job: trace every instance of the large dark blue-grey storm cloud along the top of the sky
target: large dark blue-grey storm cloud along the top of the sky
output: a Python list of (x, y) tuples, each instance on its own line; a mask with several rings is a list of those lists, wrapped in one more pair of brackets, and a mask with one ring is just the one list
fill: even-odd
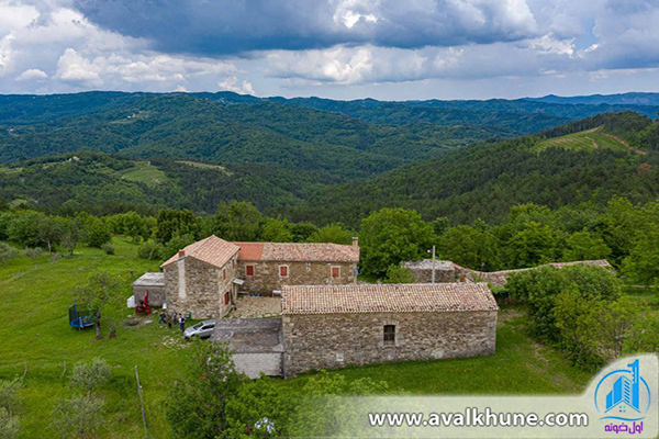
[(161, 52), (227, 55), (337, 44), (416, 48), (533, 37), (524, 0), (76, 0), (88, 20)]

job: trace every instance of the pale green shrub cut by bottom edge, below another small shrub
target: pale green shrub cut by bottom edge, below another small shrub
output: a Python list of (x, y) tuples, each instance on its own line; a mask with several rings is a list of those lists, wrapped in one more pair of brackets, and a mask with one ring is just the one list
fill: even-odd
[(103, 425), (103, 401), (97, 396), (74, 396), (58, 399), (51, 428), (62, 437), (78, 435), (81, 439)]

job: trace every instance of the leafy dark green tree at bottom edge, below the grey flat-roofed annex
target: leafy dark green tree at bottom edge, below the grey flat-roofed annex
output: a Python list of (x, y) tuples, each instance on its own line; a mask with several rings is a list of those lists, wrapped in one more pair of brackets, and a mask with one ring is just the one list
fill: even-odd
[(226, 428), (225, 406), (245, 376), (236, 372), (226, 342), (194, 340), (186, 376), (165, 402), (166, 418), (179, 438), (215, 438)]

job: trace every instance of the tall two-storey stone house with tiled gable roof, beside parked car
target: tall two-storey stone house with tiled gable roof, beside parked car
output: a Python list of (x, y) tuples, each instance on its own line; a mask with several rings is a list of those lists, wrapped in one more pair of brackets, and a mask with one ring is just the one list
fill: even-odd
[(212, 235), (166, 260), (167, 307), (193, 318), (222, 317), (233, 307), (239, 248)]

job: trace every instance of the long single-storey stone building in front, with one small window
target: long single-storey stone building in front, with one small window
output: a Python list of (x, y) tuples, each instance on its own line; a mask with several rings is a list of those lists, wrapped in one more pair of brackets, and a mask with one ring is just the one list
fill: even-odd
[(283, 373), (494, 353), (484, 283), (283, 286)]

